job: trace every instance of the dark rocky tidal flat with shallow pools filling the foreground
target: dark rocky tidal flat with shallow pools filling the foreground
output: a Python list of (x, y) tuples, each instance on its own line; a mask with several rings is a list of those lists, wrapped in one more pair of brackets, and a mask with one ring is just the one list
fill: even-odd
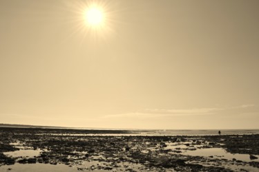
[(259, 171), (259, 134), (0, 127), (0, 171)]

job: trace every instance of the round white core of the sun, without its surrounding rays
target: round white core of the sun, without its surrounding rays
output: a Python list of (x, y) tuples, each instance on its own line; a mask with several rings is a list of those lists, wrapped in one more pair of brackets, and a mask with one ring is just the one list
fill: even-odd
[(102, 24), (104, 20), (104, 14), (102, 10), (96, 7), (89, 8), (86, 10), (86, 21), (89, 25), (97, 26)]

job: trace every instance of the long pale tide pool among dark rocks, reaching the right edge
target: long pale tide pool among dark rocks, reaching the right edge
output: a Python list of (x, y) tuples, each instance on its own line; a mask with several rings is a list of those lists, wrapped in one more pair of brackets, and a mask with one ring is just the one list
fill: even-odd
[(225, 151), (222, 148), (197, 149), (195, 151), (183, 150), (181, 154), (191, 155), (191, 156), (205, 156), (205, 157), (209, 157), (213, 155), (213, 158), (224, 158), (227, 160), (232, 160), (233, 158), (236, 158), (236, 160), (242, 160), (245, 162), (251, 162), (251, 161), (259, 162), (259, 155), (255, 155), (256, 157), (258, 157), (258, 159), (250, 160), (250, 155), (248, 154), (239, 154), (239, 153), (232, 154)]

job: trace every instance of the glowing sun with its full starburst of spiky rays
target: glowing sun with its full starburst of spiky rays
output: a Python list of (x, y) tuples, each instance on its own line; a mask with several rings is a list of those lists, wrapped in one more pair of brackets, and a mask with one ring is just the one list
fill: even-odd
[[(88, 41), (93, 45), (98, 43), (107, 43), (111, 35), (116, 34), (116, 25), (124, 24), (118, 18), (117, 3), (112, 1), (66, 1), (66, 12), (70, 15), (63, 21), (64, 25), (69, 27), (64, 42), (80, 36), (79, 47), (84, 47)], [(69, 7), (69, 8), (68, 8)]]

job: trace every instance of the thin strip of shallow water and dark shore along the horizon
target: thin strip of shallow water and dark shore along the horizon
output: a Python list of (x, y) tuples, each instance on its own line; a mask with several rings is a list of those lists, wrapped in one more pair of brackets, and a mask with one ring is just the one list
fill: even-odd
[[(231, 135), (256, 135), (259, 134), (259, 129), (221, 129), (221, 134), (215, 129), (169, 129), (169, 130), (154, 130), (154, 129), (80, 129), (80, 128), (61, 128), (61, 127), (6, 127), (1, 126), (0, 129), (7, 131), (50, 131), (54, 133), (77, 133), (77, 134), (128, 134), (140, 136), (231, 136)], [(211, 133), (202, 133), (201, 131), (211, 131)], [(234, 132), (235, 131), (235, 132)], [(245, 131), (245, 132), (244, 132)], [(185, 133), (181, 133), (185, 132)], [(189, 133), (188, 133), (189, 132)], [(200, 133), (199, 133), (200, 132)]]

